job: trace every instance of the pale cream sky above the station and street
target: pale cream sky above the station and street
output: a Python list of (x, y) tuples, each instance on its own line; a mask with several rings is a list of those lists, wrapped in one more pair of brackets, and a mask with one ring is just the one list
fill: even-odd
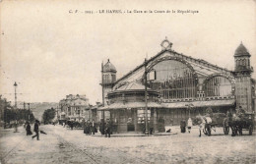
[(109, 59), (121, 78), (159, 53), (165, 37), (176, 52), (228, 70), (242, 41), (256, 68), (255, 1), (3, 0), (0, 5), (0, 94), (10, 101), (18, 82), (18, 101), (58, 102), (67, 94), (86, 94), (95, 104), (101, 101), (101, 62)]

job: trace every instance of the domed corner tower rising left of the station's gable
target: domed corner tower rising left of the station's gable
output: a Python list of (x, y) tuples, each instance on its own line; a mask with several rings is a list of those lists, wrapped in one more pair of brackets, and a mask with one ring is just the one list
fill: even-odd
[(109, 91), (112, 91), (113, 85), (116, 82), (116, 69), (107, 60), (106, 64), (101, 64), (101, 86), (102, 86), (102, 103), (106, 104), (106, 95)]

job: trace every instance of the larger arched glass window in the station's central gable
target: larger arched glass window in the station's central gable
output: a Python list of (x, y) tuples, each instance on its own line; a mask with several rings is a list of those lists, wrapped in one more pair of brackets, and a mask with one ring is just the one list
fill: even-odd
[(154, 80), (150, 81), (150, 87), (159, 91), (161, 98), (196, 97), (196, 79), (193, 70), (186, 64), (176, 60), (165, 60), (156, 64), (152, 72)]

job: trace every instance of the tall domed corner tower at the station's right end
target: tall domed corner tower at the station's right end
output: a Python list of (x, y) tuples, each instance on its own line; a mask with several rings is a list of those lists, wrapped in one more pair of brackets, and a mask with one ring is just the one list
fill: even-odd
[(241, 106), (245, 111), (252, 112), (254, 82), (251, 79), (253, 68), (250, 66), (251, 55), (240, 43), (234, 52), (235, 67), (233, 76), (235, 78), (236, 107)]

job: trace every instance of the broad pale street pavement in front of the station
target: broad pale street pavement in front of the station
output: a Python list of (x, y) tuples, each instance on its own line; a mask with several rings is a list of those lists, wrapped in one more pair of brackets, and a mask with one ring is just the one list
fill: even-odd
[[(47, 135), (40, 140), (27, 137), (25, 129), (0, 129), (1, 163), (256, 163), (256, 137), (224, 136), (222, 129), (213, 136), (191, 134), (159, 137), (92, 137), (81, 130), (62, 126), (41, 126)], [(248, 134), (248, 132), (244, 132)]]

